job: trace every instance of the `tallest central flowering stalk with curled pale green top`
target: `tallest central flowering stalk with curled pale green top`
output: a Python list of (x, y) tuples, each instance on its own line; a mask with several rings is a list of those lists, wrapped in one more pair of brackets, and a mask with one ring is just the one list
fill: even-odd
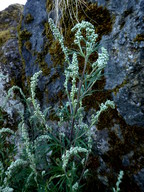
[[(60, 122), (64, 120), (64, 109), (67, 108), (69, 111), (69, 126), (70, 130), (70, 144), (68, 149), (62, 154), (62, 168), (68, 179), (68, 185), (70, 186), (70, 191), (78, 191), (80, 181), (84, 174), (86, 173), (86, 164), (89, 158), (89, 154), (92, 150), (92, 135), (90, 128), (98, 122), (100, 114), (107, 110), (108, 107), (114, 108), (115, 105), (113, 101), (107, 100), (104, 104), (100, 105), (99, 111), (91, 116), (91, 123), (87, 124), (83, 121), (83, 111), (84, 107), (82, 105), (83, 99), (86, 95), (91, 94), (92, 87), (97, 80), (100, 79), (102, 75), (102, 70), (107, 64), (108, 53), (107, 50), (102, 47), (101, 52), (98, 53), (98, 59), (93, 63), (90, 63), (89, 58), (91, 54), (96, 52), (96, 40), (98, 35), (95, 34), (94, 26), (86, 21), (76, 24), (71, 30), (75, 32), (74, 44), (78, 47), (78, 51), (71, 51), (64, 45), (64, 37), (60, 34), (58, 28), (55, 26), (52, 19), (49, 19), (49, 24), (55, 39), (57, 39), (61, 45), (62, 51), (65, 55), (65, 62), (67, 63), (67, 68), (65, 69), (65, 82), (64, 87), (67, 94), (68, 101), (66, 106), (61, 107)], [(83, 35), (85, 34), (85, 35)], [(85, 45), (83, 47), (82, 45)], [(78, 56), (84, 58), (82, 73), (79, 72)], [(91, 64), (91, 71), (87, 72), (88, 65)], [(71, 88), (69, 88), (71, 84)], [(61, 125), (61, 124), (60, 124)], [(81, 139), (85, 141), (86, 145), (80, 144)], [(69, 172), (73, 173), (73, 165), (69, 164), (70, 159), (73, 157), (79, 158), (79, 154), (83, 162), (83, 170), (81, 172), (80, 178), (75, 180), (71, 176), (69, 178)], [(70, 166), (71, 165), (71, 166)], [(73, 181), (73, 182), (72, 182)], [(75, 182), (74, 182), (75, 181)]]

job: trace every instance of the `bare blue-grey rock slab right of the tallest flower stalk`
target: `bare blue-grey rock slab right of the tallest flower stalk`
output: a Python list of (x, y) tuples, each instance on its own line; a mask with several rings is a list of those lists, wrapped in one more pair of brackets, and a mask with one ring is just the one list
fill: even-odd
[(103, 38), (110, 60), (105, 70), (107, 90), (129, 125), (144, 127), (144, 1), (97, 1), (115, 16), (113, 30)]

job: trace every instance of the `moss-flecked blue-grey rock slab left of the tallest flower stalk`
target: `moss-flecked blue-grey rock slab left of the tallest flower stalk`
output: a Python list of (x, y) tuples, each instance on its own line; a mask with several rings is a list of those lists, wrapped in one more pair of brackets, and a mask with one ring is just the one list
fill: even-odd
[[(28, 1), (24, 9), (20, 32), (22, 56), (25, 63), (26, 84), (29, 84), (29, 78), (35, 72), (43, 71), (44, 75), (40, 78), (38, 86), (42, 95), (41, 105), (43, 107), (45, 105), (51, 106), (53, 103), (56, 104), (59, 100), (58, 94), (63, 90), (64, 82), (62, 70), (59, 67), (51, 67), (52, 61), (48, 52), (48, 40), (45, 35), (45, 23), (47, 21), (46, 0)], [(23, 32), (28, 32), (29, 37)], [(62, 81), (56, 78), (58, 76)]]

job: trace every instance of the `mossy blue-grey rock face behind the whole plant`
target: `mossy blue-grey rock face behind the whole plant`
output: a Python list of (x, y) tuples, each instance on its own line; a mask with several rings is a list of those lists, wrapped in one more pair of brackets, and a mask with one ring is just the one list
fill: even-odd
[[(86, 118), (91, 108), (98, 109), (93, 102), (95, 100), (101, 103), (113, 99), (116, 109), (102, 114), (98, 125), (92, 127), (95, 155), (88, 163), (92, 178), (85, 192), (111, 191), (120, 170), (124, 170), (122, 191), (144, 191), (144, 1), (90, 2), (83, 7), (84, 12), (79, 9), (79, 19), (95, 25), (99, 42), (107, 48), (110, 59), (104, 77), (94, 86), (103, 91), (84, 101), (88, 114)], [(42, 108), (51, 105), (56, 108), (64, 99), (63, 54), (48, 26), (48, 15), (55, 18), (52, 5), (52, 0), (28, 0), (18, 27), (18, 37), (16, 32), (13, 33), (13, 28), (12, 31), (8, 30), (8, 25), (16, 27), (20, 19), (5, 17), (3, 20), (4, 12), (0, 13), (0, 23), (6, 23), (6, 28), (3, 27), (5, 38), (1, 38), (0, 34), (0, 70), (3, 75), (8, 75), (6, 80), (1, 80), (0, 103), (5, 97), (4, 91), (7, 86), (13, 85), (13, 81), (28, 94), (30, 77), (39, 70), (43, 71), (43, 75), (38, 84), (37, 97)], [(19, 10), (21, 13), (21, 7), (11, 8), (8, 8), (8, 12)], [(63, 33), (66, 45), (70, 47), (73, 39), (70, 17), (65, 14), (64, 23), (60, 21), (60, 24), (63, 28), (66, 26), (68, 32)], [(18, 38), (22, 62), (19, 59)], [(19, 100), (13, 102), (16, 101), (17, 108), (22, 109)], [(10, 106), (7, 113), (11, 110)]]

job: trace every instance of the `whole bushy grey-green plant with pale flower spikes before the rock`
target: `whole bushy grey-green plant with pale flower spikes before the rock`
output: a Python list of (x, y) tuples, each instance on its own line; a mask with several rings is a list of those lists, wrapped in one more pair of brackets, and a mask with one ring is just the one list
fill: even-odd
[[(42, 71), (31, 77), (29, 98), (25, 97), (19, 87), (12, 87), (7, 99), (11, 91), (18, 89), (26, 104), (28, 118), (25, 114), (21, 114), (21, 122), (18, 125), (22, 145), (19, 159), (12, 161), (5, 173), (1, 162), (0, 176), (4, 174), (4, 185), (1, 186), (3, 191), (6, 187), (9, 187), (9, 190), (13, 188), (14, 191), (19, 191), (21, 188), (23, 192), (31, 190), (81, 191), (82, 180), (88, 176), (89, 172), (86, 164), (93, 145), (91, 127), (98, 122), (103, 111), (108, 107), (115, 107), (114, 102), (108, 100), (100, 105), (96, 114), (92, 114), (90, 123), (84, 121), (83, 99), (92, 94), (92, 87), (102, 76), (102, 70), (108, 60), (106, 49), (101, 48), (98, 59), (93, 63), (89, 61), (90, 55), (97, 50), (97, 34), (95, 34), (94, 26), (82, 21), (73, 27), (74, 43), (78, 50), (71, 51), (65, 47), (64, 38), (52, 19), (49, 19), (49, 24), (54, 37), (61, 45), (67, 63), (64, 71), (67, 102), (60, 107), (57, 114), (58, 130), (61, 130), (63, 126), (67, 130), (61, 132), (56, 131), (54, 126), (50, 127), (45, 112), (41, 110), (36, 99), (36, 86)], [(83, 36), (83, 31), (86, 32), (85, 36)], [(85, 47), (82, 47), (82, 42)], [(79, 72), (78, 56), (84, 58), (82, 73)], [(89, 73), (86, 71), (88, 64), (91, 64)], [(68, 84), (71, 85), (70, 88)], [(5, 131), (6, 129), (1, 130), (1, 132)], [(10, 130), (7, 129), (7, 131)]]

